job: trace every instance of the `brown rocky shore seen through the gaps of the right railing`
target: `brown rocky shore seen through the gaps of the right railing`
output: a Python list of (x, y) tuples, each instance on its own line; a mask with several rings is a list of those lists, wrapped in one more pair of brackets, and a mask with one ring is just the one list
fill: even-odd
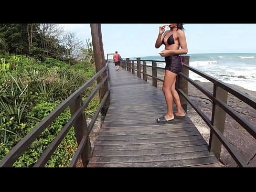
[[(147, 67), (147, 73), (151, 74), (151, 67)], [(136, 73), (135, 73), (136, 75)], [(164, 70), (158, 69), (157, 77), (163, 79), (164, 78)], [(143, 77), (142, 77), (143, 78)], [(195, 80), (202, 87), (207, 89), (212, 93), (213, 83), (212, 82), (200, 82)], [(152, 84), (152, 78), (148, 77), (147, 82)], [(228, 84), (228, 83), (226, 83)], [(228, 84), (229, 86), (246, 93), (251, 98), (256, 98), (256, 91), (250, 91), (244, 89), (240, 86), (236, 86), (234, 84)], [(162, 89), (162, 82), (157, 81), (157, 88)], [(212, 113), (212, 102), (206, 97), (204, 93), (195, 88), (192, 84), (189, 83), (188, 86), (188, 95), (193, 102), (196, 103), (197, 106), (201, 109), (202, 112), (206, 114), (206, 116), (211, 120)], [(238, 112), (244, 119), (250, 122), (254, 127), (256, 127), (256, 110), (251, 108), (248, 104), (242, 102), (240, 99), (234, 97), (230, 93), (228, 93), (228, 106), (232, 108), (234, 111)], [(196, 125), (198, 131), (205, 138), (206, 142), (209, 144), (209, 136), (210, 136), (210, 128), (206, 125), (206, 123), (200, 118), (197, 112), (188, 104), (187, 115), (190, 120)], [(248, 163), (250, 167), (256, 167), (256, 141), (255, 139), (243, 129), (243, 127), (238, 124), (235, 120), (233, 120), (228, 114), (226, 115), (226, 124), (225, 124), (225, 132), (224, 135), (228, 138), (228, 141), (237, 148), (240, 155), (243, 159)], [(222, 146), (220, 161), (223, 165), (227, 167), (236, 167), (237, 164), (234, 162), (232, 157), (227, 152), (226, 148)]]

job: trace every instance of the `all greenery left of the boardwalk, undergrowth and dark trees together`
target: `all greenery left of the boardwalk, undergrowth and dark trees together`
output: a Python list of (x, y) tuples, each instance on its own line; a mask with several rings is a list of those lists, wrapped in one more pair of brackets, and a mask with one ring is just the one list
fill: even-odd
[[(95, 74), (90, 41), (87, 41), (87, 48), (81, 49), (83, 59), (78, 61), (71, 55), (66, 57), (68, 51), (57, 43), (58, 39), (47, 41), (55, 42), (55, 48), (50, 48), (50, 44), (46, 46), (44, 38), (39, 38), (47, 39), (42, 36), (45, 28), (40, 25), (47, 24), (0, 24), (0, 161), (21, 138)], [(88, 97), (95, 83), (83, 92), (83, 99)], [(87, 116), (93, 115), (98, 105), (98, 99), (92, 100)], [(69, 119), (67, 109), (13, 166), (33, 166)], [(72, 127), (46, 166), (67, 167), (76, 148)]]

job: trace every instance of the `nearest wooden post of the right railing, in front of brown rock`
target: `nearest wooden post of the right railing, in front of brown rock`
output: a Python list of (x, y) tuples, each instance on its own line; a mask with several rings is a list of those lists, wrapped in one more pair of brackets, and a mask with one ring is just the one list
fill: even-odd
[[(228, 102), (228, 92), (218, 87), (216, 83), (214, 83), (214, 97), (226, 104)], [(219, 105), (213, 102), (211, 124), (214, 125), (223, 134), (225, 130), (225, 121), (226, 112), (223, 111)], [(218, 137), (212, 131), (210, 131), (209, 151), (214, 153), (218, 159), (220, 158), (221, 145), (222, 144)]]

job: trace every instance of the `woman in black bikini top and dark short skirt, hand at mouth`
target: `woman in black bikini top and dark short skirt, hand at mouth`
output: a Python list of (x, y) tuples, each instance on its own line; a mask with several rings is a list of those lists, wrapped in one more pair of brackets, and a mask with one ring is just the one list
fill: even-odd
[[(166, 30), (170, 27), (170, 30)], [(165, 58), (165, 76), (163, 83), (163, 93), (167, 104), (167, 114), (157, 119), (158, 123), (172, 123), (174, 118), (184, 119), (185, 113), (177, 91), (175, 90), (175, 82), (177, 74), (182, 70), (182, 59), (180, 55), (187, 54), (187, 41), (184, 34), (183, 24), (168, 24), (159, 27), (159, 34), (156, 39), (155, 47), (159, 48), (165, 45), (165, 50), (159, 54)], [(177, 113), (173, 113), (173, 101), (177, 106)]]

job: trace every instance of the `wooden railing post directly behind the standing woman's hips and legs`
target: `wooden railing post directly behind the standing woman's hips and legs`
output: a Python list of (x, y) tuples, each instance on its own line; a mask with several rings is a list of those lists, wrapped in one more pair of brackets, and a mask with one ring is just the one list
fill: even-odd
[[(182, 56), (182, 61), (184, 64), (189, 66), (189, 56)], [(189, 70), (185, 67), (182, 68), (182, 73), (184, 73), (187, 77), (189, 77)], [(177, 84), (178, 88), (181, 89), (186, 95), (188, 95), (188, 81), (182, 78), (181, 76), (177, 76)], [(182, 94), (179, 94), (180, 103), (182, 104), (182, 108), (187, 113), (188, 111), (188, 102), (183, 97)]]

